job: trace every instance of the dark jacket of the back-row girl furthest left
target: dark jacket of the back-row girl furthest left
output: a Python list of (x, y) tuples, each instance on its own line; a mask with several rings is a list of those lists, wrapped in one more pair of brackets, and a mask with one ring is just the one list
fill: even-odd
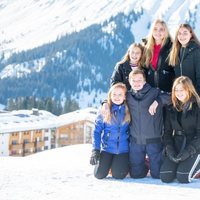
[(132, 68), (129, 64), (129, 61), (125, 63), (117, 64), (114, 68), (113, 74), (110, 79), (110, 84), (114, 85), (115, 83), (122, 82), (126, 85), (127, 90), (131, 89), (131, 86), (128, 81), (128, 77)]

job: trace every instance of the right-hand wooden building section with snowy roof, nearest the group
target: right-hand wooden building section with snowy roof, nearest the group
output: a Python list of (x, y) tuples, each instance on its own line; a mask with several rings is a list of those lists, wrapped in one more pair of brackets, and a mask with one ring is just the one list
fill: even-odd
[(57, 146), (92, 142), (97, 109), (86, 108), (58, 117)]

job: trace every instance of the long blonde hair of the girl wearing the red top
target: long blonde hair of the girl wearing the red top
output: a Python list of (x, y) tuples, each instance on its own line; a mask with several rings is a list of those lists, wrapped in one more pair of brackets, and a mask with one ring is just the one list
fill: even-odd
[(145, 50), (144, 50), (144, 57), (145, 58), (143, 58), (143, 59), (145, 60), (146, 67), (149, 67), (151, 60), (152, 60), (152, 57), (153, 57), (153, 49), (154, 49), (154, 45), (155, 45), (155, 40), (153, 38), (153, 31), (154, 31), (156, 24), (161, 24), (164, 27), (165, 32), (166, 32), (166, 35), (165, 35), (165, 37), (162, 41), (162, 44), (161, 44), (161, 48), (165, 45), (168, 38), (171, 39), (171, 36), (169, 34), (169, 30), (168, 30), (168, 27), (167, 27), (167, 24), (165, 23), (165, 21), (163, 21), (161, 19), (155, 20), (154, 23), (151, 26), (151, 29), (150, 29), (150, 32), (149, 32), (149, 35), (148, 35), (148, 38), (147, 38), (147, 43), (145, 45)]

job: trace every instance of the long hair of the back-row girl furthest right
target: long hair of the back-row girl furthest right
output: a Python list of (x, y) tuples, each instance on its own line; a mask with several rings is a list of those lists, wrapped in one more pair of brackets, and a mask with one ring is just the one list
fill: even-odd
[(173, 42), (172, 49), (169, 54), (169, 65), (172, 65), (172, 66), (177, 65), (178, 60), (179, 60), (178, 54), (179, 54), (179, 51), (181, 48), (181, 43), (178, 41), (178, 32), (179, 32), (180, 28), (186, 28), (192, 35), (190, 41), (192, 40), (200, 46), (200, 42), (199, 42), (196, 34), (192, 30), (192, 27), (189, 24), (181, 24), (176, 31), (175, 40)]

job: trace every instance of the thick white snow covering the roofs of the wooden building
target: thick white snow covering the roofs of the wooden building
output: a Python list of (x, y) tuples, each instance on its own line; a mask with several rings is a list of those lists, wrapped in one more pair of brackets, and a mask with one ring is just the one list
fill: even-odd
[(60, 116), (45, 110), (18, 110), (0, 113), (0, 133), (54, 128), (82, 120), (95, 121), (98, 110), (85, 108)]

